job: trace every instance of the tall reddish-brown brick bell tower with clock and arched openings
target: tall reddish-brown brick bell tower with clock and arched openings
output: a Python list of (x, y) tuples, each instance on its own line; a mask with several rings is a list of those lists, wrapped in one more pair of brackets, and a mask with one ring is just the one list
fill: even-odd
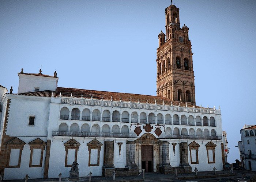
[(195, 80), (188, 38), (189, 28), (180, 28), (179, 8), (170, 5), (165, 9), (165, 34), (158, 35), (157, 48), (157, 96), (196, 103)]

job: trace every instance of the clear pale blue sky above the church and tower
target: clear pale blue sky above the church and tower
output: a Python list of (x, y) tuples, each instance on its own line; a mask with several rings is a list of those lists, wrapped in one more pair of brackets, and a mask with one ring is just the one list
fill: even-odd
[[(255, 0), (173, 0), (189, 27), (196, 105), (221, 107), (228, 162), (255, 118)], [(1, 0), (0, 85), (17, 73), (53, 75), (59, 87), (156, 95), (158, 34), (169, 0)]]

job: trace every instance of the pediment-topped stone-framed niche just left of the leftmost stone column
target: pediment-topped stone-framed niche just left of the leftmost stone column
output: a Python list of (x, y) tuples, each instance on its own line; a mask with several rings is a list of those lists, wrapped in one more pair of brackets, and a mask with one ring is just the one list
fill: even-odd
[(102, 145), (103, 144), (101, 142), (99, 142), (98, 140), (96, 140), (96, 139), (87, 143), (88, 150), (89, 150), (88, 166), (99, 166), (99, 153), (101, 151), (101, 146)]

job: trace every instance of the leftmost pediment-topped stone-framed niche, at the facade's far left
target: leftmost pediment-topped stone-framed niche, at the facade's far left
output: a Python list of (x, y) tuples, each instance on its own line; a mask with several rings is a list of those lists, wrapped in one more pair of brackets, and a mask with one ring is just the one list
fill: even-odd
[(20, 167), (20, 160), (23, 147), (26, 143), (20, 140), (19, 138), (14, 138), (9, 142), (6, 142), (8, 149), (8, 158), (7, 158), (7, 166), (11, 167)]

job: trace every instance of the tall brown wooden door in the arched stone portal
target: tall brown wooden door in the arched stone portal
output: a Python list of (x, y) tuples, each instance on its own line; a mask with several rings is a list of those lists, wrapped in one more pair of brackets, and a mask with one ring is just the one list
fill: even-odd
[(153, 172), (153, 146), (142, 145), (141, 147), (142, 169), (145, 172)]

